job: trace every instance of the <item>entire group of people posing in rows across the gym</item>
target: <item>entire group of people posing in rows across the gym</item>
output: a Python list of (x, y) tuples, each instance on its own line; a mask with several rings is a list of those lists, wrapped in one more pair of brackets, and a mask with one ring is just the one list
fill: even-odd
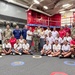
[(4, 31), (0, 29), (0, 44), (2, 44), (1, 53), (4, 54), (33, 54), (31, 47), (34, 47), (34, 51), (40, 51), (41, 55), (74, 57), (75, 23), (71, 28), (65, 25), (58, 31), (55, 27), (51, 30), (50, 27), (44, 29), (40, 26), (32, 31), (32, 28), (28, 28), (27, 25), (22, 30), (17, 25), (12, 31), (7, 25)]

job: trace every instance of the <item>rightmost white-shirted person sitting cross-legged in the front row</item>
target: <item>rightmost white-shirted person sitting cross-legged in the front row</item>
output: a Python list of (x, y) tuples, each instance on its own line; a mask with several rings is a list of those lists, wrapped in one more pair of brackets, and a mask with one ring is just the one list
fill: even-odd
[(70, 45), (68, 44), (67, 40), (65, 40), (64, 44), (62, 45), (62, 55), (63, 57), (69, 57), (71, 55)]

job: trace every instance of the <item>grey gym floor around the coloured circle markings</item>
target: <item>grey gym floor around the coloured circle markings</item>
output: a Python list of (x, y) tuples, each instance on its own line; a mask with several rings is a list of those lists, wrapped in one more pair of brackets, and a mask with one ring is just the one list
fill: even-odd
[[(33, 55), (7, 55), (0, 58), (0, 75), (51, 75), (52, 72), (64, 72), (75, 75), (75, 65), (64, 64), (64, 61), (75, 59), (43, 56), (40, 59), (32, 58)], [(24, 65), (12, 66), (12, 62), (23, 61)], [(64, 75), (64, 74), (55, 74)]]

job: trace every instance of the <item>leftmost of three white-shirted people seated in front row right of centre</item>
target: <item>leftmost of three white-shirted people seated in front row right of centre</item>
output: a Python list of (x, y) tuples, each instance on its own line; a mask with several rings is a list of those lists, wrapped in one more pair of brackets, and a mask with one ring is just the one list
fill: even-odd
[(50, 55), (51, 54), (51, 45), (49, 44), (49, 41), (46, 41), (46, 44), (43, 46), (43, 49), (41, 50), (41, 55)]

